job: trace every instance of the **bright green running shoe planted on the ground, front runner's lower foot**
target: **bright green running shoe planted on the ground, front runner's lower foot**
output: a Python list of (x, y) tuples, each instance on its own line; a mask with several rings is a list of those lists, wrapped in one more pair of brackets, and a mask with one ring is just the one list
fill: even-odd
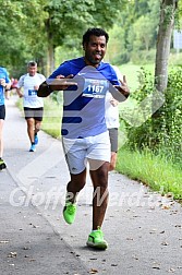
[(104, 234), (99, 227), (97, 230), (94, 230), (89, 234), (86, 244), (90, 248), (100, 250), (105, 250), (108, 247), (108, 243), (104, 239)]

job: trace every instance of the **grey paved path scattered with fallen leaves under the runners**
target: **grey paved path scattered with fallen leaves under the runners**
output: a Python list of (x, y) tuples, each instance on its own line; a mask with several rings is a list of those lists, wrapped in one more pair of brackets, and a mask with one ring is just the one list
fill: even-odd
[(76, 220), (62, 218), (69, 172), (60, 141), (40, 132), (29, 153), (26, 123), (7, 103), (4, 159), (0, 172), (0, 274), (182, 274), (182, 210), (139, 182), (110, 174), (104, 223), (109, 248), (85, 243), (92, 228), (92, 184), (80, 194)]

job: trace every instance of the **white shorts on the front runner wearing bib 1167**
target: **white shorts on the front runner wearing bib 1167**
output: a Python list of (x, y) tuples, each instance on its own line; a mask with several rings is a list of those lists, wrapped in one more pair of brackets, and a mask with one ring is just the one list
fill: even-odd
[[(110, 140), (108, 131), (83, 139), (62, 138), (62, 145), (71, 174), (76, 175), (82, 172), (87, 166), (87, 160), (89, 160), (89, 165), (90, 160), (95, 160), (95, 169), (98, 169), (104, 162), (110, 162)], [(90, 166), (89, 169), (92, 169)]]

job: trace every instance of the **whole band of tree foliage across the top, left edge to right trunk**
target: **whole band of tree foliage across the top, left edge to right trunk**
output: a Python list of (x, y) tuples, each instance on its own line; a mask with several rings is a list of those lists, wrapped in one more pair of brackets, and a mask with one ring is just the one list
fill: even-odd
[(83, 32), (93, 26), (109, 31), (112, 63), (139, 62), (145, 56), (148, 61), (153, 57), (148, 51), (156, 47), (159, 0), (0, 0), (0, 4), (1, 63), (15, 74), (29, 59), (49, 74), (56, 49), (77, 52)]

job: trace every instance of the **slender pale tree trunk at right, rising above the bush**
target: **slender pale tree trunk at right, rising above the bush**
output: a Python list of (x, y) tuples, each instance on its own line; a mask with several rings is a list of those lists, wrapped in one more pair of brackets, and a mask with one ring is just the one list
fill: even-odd
[(168, 84), (168, 59), (178, 0), (161, 0), (160, 22), (157, 37), (155, 86), (163, 92)]

